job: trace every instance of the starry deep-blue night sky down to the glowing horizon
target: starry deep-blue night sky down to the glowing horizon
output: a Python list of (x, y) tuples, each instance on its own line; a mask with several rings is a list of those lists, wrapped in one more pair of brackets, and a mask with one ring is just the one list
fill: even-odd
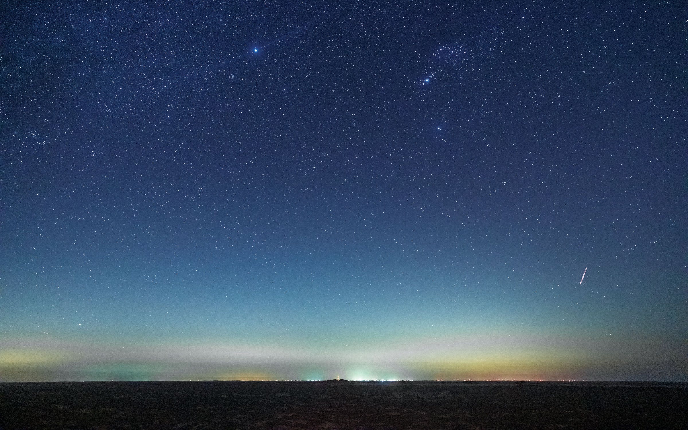
[(686, 12), (4, 3), (0, 380), (688, 380)]

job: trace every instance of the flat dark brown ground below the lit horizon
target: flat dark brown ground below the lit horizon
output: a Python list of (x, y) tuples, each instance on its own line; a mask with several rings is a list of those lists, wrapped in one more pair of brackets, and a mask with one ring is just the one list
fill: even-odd
[(685, 429), (658, 383), (0, 384), (5, 429)]

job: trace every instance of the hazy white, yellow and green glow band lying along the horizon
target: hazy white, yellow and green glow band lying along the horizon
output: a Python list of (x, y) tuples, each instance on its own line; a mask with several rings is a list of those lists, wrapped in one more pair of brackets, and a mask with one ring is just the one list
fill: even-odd
[[(654, 341), (652, 341), (654, 343)], [(1, 380), (547, 380), (628, 378), (620, 363), (657, 361), (638, 350), (651, 345), (599, 338), (473, 335), (413, 342), (359, 343), (345, 349), (248, 342), (6, 338), (0, 341)], [(657, 356), (666, 354), (657, 345)], [(663, 357), (660, 379), (681, 358)], [(614, 376), (614, 374), (612, 374)]]

